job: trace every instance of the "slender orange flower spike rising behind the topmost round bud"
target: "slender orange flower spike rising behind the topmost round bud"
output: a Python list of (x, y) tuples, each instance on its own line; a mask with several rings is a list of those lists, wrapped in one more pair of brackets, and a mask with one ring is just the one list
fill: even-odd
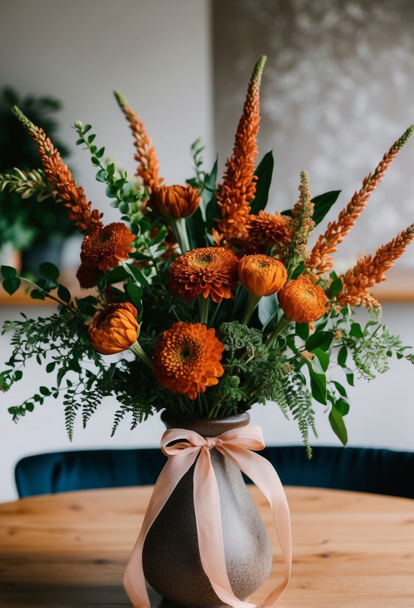
[(120, 92), (115, 91), (115, 97), (119, 103), (122, 111), (124, 112), (127, 121), (131, 125), (132, 135), (134, 136), (134, 145), (137, 149), (135, 153), (135, 161), (138, 161), (137, 175), (143, 181), (144, 186), (148, 190), (148, 194), (151, 195), (153, 188), (158, 188), (163, 178), (158, 176), (159, 162), (157, 152), (152, 146), (151, 137), (145, 130), (145, 125), (140, 120), (137, 112), (131, 108), (127, 100), (121, 95)]

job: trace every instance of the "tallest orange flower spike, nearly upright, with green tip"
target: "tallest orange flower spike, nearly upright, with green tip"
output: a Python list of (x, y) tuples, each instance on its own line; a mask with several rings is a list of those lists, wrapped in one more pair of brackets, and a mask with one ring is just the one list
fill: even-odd
[(262, 55), (249, 82), (243, 114), (237, 126), (232, 157), (227, 159), (223, 184), (217, 193), (222, 215), (217, 229), (226, 241), (247, 238), (249, 202), (256, 192), (254, 161), (257, 156), (256, 137), (259, 131), (259, 89), (266, 57)]

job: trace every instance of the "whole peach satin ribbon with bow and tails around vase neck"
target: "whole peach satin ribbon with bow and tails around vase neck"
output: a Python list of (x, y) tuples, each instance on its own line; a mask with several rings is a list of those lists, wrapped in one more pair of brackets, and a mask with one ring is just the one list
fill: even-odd
[[(179, 441), (173, 446), (169, 443)], [(161, 438), (161, 449), (168, 461), (157, 479), (154, 492), (144, 516), (143, 525), (124, 574), (124, 588), (134, 608), (150, 608), (142, 566), (145, 537), (155, 518), (171, 496), (177, 483), (194, 468), (194, 510), (203, 570), (215, 593), (234, 608), (256, 608), (237, 599), (231, 590), (223, 547), (220, 496), (211, 464), (210, 450), (217, 449), (256, 484), (269, 501), (274, 525), (285, 560), (285, 579), (265, 599), (261, 608), (272, 608), (288, 586), (291, 572), (292, 543), (290, 513), (282, 483), (268, 460), (251, 450), (263, 449), (262, 429), (253, 424), (228, 430), (219, 437), (202, 437), (186, 429), (169, 429)]]

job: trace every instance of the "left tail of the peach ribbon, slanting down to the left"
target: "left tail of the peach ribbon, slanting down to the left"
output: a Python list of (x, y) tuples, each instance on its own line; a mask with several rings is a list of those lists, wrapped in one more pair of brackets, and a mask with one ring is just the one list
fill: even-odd
[(123, 578), (124, 589), (134, 608), (151, 608), (142, 565), (142, 551), (146, 535), (174, 491), (175, 486), (194, 463), (197, 454), (199, 454), (199, 450), (188, 453), (182, 452), (178, 457), (169, 458), (155, 483), (140, 534), (132, 550)]

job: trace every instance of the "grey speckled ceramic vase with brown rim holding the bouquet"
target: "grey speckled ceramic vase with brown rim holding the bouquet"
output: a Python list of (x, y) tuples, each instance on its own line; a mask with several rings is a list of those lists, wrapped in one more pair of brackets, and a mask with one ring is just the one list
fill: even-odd
[[(248, 413), (213, 420), (162, 419), (168, 428), (217, 437), (246, 426)], [(234, 594), (247, 599), (269, 576), (272, 554), (268, 536), (242, 474), (228, 458), (211, 450), (220, 493), (226, 569)], [(215, 595), (202, 568), (193, 502), (194, 465), (178, 483), (146, 537), (144, 574), (166, 605), (185, 608), (228, 606)]]

